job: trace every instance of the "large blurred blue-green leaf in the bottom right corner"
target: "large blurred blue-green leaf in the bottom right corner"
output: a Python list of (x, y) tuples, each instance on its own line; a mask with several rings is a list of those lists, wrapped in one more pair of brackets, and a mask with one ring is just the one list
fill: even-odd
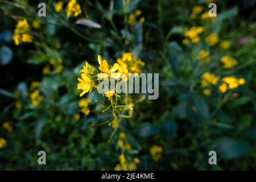
[(224, 159), (233, 159), (245, 155), (249, 147), (232, 138), (221, 138), (216, 143), (217, 155)]

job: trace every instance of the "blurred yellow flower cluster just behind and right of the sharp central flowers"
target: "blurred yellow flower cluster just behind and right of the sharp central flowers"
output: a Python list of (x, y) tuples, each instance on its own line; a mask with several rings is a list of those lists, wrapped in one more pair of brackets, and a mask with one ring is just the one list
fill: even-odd
[(141, 59), (134, 57), (132, 52), (123, 53), (122, 59), (118, 58), (117, 63), (120, 65), (118, 72), (124, 74), (123, 80), (126, 81), (130, 73), (141, 73), (142, 71), (139, 67), (145, 65)]

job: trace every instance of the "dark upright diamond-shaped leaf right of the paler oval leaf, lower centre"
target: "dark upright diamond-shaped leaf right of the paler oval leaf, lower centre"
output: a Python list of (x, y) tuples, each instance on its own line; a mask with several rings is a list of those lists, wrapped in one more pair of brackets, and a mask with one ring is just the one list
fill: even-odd
[(160, 127), (160, 134), (163, 136), (166, 143), (170, 143), (171, 139), (175, 136), (177, 125), (171, 120), (170, 115), (167, 115)]

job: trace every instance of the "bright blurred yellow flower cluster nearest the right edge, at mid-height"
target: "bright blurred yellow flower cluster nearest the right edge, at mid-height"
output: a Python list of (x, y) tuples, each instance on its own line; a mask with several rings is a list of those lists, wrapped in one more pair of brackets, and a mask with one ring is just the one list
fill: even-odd
[(234, 76), (225, 76), (222, 78), (222, 83), (218, 89), (220, 90), (221, 93), (226, 92), (228, 89), (235, 89), (239, 85), (245, 84), (245, 78), (236, 78)]

